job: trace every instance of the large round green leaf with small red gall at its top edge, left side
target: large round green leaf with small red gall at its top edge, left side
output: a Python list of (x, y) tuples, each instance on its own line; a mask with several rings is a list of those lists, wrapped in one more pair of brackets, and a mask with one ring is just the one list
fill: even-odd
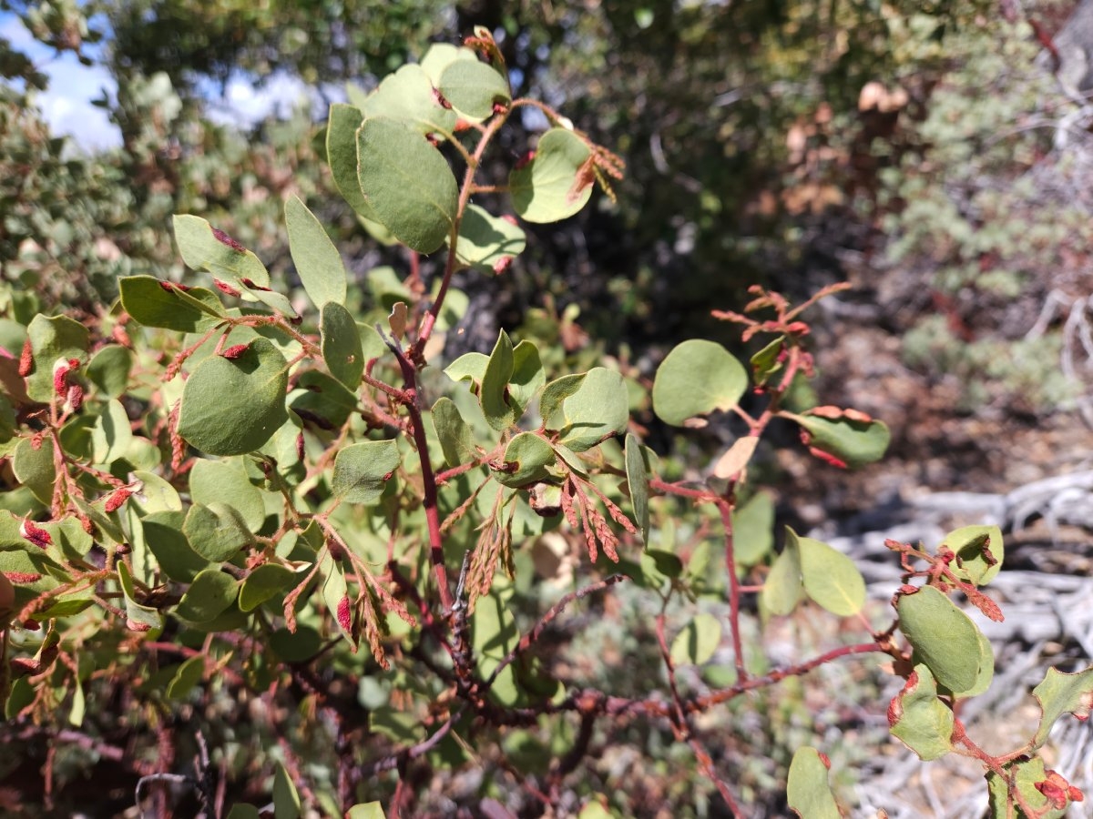
[(284, 356), (266, 339), (236, 358), (209, 356), (183, 389), (178, 434), (211, 455), (254, 452), (289, 419), (287, 387)]

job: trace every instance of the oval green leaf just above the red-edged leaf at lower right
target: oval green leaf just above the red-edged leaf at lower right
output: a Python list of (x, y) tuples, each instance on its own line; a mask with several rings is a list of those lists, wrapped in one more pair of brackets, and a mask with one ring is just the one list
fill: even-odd
[(971, 690), (979, 677), (979, 629), (933, 586), (901, 594), (900, 630), (935, 679), (950, 691)]

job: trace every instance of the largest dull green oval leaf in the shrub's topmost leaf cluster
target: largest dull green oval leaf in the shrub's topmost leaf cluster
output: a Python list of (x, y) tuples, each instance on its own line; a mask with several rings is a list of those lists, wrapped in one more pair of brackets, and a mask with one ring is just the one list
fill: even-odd
[(365, 120), (356, 141), (361, 190), (376, 218), (407, 247), (432, 253), (451, 233), (459, 203), (447, 159), (392, 119)]

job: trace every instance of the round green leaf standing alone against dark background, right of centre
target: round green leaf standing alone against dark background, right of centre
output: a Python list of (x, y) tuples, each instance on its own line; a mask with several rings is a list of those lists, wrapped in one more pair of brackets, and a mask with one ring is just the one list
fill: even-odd
[(725, 347), (692, 339), (672, 349), (657, 368), (653, 411), (679, 427), (696, 415), (731, 410), (747, 389), (747, 370)]

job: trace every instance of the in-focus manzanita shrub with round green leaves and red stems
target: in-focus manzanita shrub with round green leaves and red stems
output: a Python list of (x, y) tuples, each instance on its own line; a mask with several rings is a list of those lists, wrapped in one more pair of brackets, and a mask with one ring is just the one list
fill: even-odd
[[(434, 46), (351, 100), (331, 107), (325, 132), (333, 182), (374, 236), (410, 251), (404, 275), (369, 274), (371, 298), (291, 195), (302, 294), (197, 215), (174, 222), (187, 281), (121, 278), (101, 316), (44, 314), (5, 286), (0, 699), (10, 724), (56, 744), (47, 800), (59, 747), (101, 751), (136, 719), (157, 737), (151, 756), (130, 753), (137, 799), (160, 794), (161, 812), (173, 783), (209, 816), (258, 816), (224, 804), (232, 780), (231, 793), (255, 802), (272, 793), (279, 819), (304, 808), (396, 815), (426, 798), (431, 779), (495, 765), (521, 780), (531, 807), (503, 806), (512, 794), (489, 771), (463, 804), (489, 802), (491, 816), (603, 816), (631, 809), (625, 795), (566, 802), (564, 784), (598, 729), (643, 720), (669, 726), (744, 816), (734, 760), (698, 717), (861, 655), (905, 680), (888, 705), (892, 734), (924, 760), (978, 760), (992, 817), (1061, 817), (1081, 800), (1039, 751), (1058, 719), (1088, 716), (1093, 668), (1047, 672), (1033, 691), (1039, 725), (1020, 748), (984, 749), (960, 719), (960, 703), (990, 685), (994, 657), (954, 597), (1003, 616), (983, 591), (1002, 567), (998, 527), (966, 526), (931, 546), (889, 542), (904, 569), (891, 610), (867, 604), (861, 573), (827, 544), (787, 529), (775, 554), (769, 496), (749, 473), (772, 422), (800, 428), (818, 472), (877, 461), (888, 446), (886, 427), (863, 413), (789, 400), (813, 369), (804, 310), (839, 287), (798, 306), (754, 288), (741, 312), (715, 311), (756, 351), (747, 363), (704, 340), (667, 355), (651, 383), (660, 422), (685, 435), (729, 414), (747, 430), (680, 478), (661, 465), (671, 453), (642, 443), (632, 412), (648, 406), (648, 381), (622, 361), (566, 371), (560, 336), (540, 347), (501, 330), (489, 355), (434, 366), (467, 309), (453, 277), (503, 273), (524, 250), (521, 219), (566, 218), (597, 182), (610, 193), (620, 159), (549, 106), (512, 98), (485, 31), (465, 47)], [(550, 126), (536, 150), (507, 180), (480, 178), (494, 138), (530, 108)], [(434, 253), (428, 285), (421, 257)], [(671, 547), (673, 503), (709, 518), (692, 549)], [(548, 534), (583, 553), (568, 591), (533, 577), (528, 553)], [(620, 584), (659, 610), (662, 680), (627, 680), (636, 696), (585, 685), (543, 651), (567, 607)], [(726, 617), (698, 609), (712, 594)], [(763, 645), (744, 645), (742, 622), (802, 606), (846, 618), (842, 632), (858, 631), (858, 642), (774, 668), (751, 663)], [(731, 657), (732, 678), (681, 679), (715, 654)], [(225, 693), (228, 707), (267, 707), (249, 717), (277, 738), (262, 771), (247, 768), (260, 748), (218, 735)], [(282, 698), (299, 712), (291, 732), (279, 732)], [(506, 759), (516, 731), (531, 741), (530, 762)], [(200, 751), (192, 767), (177, 758), (184, 737)], [(841, 815), (827, 769), (821, 750), (797, 750), (791, 810)], [(248, 776), (257, 785), (240, 784)]]

